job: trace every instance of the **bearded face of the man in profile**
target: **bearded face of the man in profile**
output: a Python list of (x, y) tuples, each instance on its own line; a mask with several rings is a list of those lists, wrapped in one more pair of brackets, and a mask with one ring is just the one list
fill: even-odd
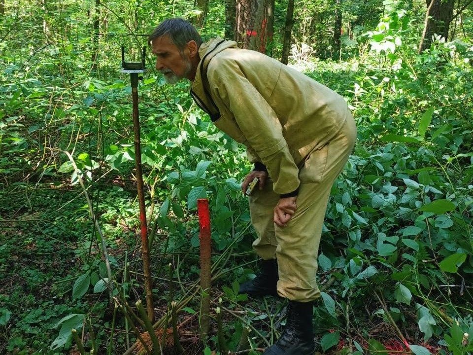
[(166, 35), (153, 39), (151, 48), (156, 56), (156, 69), (161, 71), (166, 82), (175, 84), (182, 78), (193, 79), (190, 77), (192, 65), (187, 48), (179, 51)]

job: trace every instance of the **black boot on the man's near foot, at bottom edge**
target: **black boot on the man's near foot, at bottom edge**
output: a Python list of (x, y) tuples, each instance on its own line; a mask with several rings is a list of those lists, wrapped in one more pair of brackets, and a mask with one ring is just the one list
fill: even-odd
[(286, 327), (281, 337), (263, 355), (313, 355), (315, 352), (312, 333), (314, 302), (289, 301)]

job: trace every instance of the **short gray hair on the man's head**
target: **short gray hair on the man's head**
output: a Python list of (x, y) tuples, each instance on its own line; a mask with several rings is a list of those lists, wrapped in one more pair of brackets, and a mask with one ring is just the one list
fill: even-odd
[(186, 44), (191, 40), (196, 41), (198, 47), (202, 44), (202, 37), (196, 28), (189, 21), (178, 17), (161, 22), (148, 37), (148, 45), (151, 46), (153, 39), (164, 35), (169, 36), (169, 39), (179, 51), (183, 51)]

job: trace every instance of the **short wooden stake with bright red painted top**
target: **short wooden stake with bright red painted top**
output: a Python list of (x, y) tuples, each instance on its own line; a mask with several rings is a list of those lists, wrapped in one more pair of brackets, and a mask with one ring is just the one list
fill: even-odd
[(211, 262), (211, 244), (210, 244), (210, 213), (208, 211), (208, 200), (197, 200), (197, 213), (199, 215), (201, 244), (201, 317), (200, 317), (200, 337), (205, 343), (208, 335), (209, 311), (210, 311), (210, 262)]

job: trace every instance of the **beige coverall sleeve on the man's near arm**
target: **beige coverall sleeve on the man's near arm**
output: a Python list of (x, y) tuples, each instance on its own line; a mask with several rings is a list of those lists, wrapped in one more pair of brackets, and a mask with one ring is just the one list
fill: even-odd
[(212, 96), (217, 105), (220, 101), (234, 115), (245, 144), (266, 165), (274, 192), (287, 194), (297, 190), (299, 169), (274, 110), (235, 61), (218, 61), (212, 65), (217, 68), (208, 71)]

